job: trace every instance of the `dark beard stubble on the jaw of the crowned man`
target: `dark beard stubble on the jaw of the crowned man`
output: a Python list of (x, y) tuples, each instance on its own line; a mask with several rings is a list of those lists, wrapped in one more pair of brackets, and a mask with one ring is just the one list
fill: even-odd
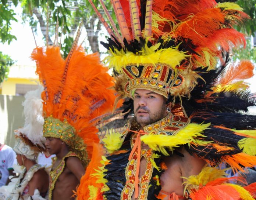
[[(149, 117), (147, 117), (146, 119), (144, 118), (139, 118), (136, 115), (138, 114), (137, 111), (139, 109), (144, 110), (145, 112), (149, 113)], [(155, 112), (155, 113), (150, 113), (150, 110), (147, 109), (145, 106), (139, 106), (136, 110), (135, 110), (135, 119), (136, 121), (141, 125), (141, 127), (147, 126), (149, 124), (155, 123), (157, 121), (159, 121), (160, 119), (163, 119), (164, 117), (166, 117), (165, 112), (166, 111), (166, 106), (163, 104), (163, 106), (161, 107), (161, 110)]]

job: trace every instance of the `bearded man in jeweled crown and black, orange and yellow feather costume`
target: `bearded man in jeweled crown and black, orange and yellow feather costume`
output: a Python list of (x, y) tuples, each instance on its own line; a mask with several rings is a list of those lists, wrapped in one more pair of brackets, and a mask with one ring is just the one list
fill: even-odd
[(94, 181), (79, 187), (78, 199), (252, 200), (255, 185), (226, 184), (216, 167), (256, 164), (256, 116), (244, 113), (256, 104), (244, 82), (253, 65), (228, 66), (223, 57), (245, 41), (232, 26), (246, 14), (213, 0), (111, 2), (122, 36), (91, 4), (112, 37), (102, 44), (120, 74), (116, 90), (135, 117), (124, 133), (103, 139), (110, 156), (92, 158), (95, 170), (85, 177)]

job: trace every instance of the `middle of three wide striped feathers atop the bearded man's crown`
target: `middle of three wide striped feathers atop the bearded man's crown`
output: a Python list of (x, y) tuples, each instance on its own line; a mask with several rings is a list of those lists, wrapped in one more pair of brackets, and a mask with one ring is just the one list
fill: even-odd
[(139, 40), (141, 37), (141, 22), (139, 21), (139, 8), (136, 0), (129, 0), (130, 17), (133, 38)]

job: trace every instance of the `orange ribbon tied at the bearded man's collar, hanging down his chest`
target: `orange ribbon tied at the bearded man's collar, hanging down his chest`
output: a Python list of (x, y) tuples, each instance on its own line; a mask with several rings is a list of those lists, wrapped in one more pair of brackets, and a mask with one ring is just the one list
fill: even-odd
[(138, 131), (132, 131), (132, 130), (128, 129), (128, 131), (137, 133), (134, 147), (132, 148), (132, 151), (129, 155), (129, 160), (132, 159), (132, 156), (133, 156), (136, 148), (138, 147), (137, 167), (136, 167), (136, 173), (135, 173), (135, 198), (138, 198), (138, 195), (139, 195), (139, 165), (141, 163), (141, 135), (146, 135), (148, 133), (144, 132), (143, 130), (140, 130), (138, 132)]

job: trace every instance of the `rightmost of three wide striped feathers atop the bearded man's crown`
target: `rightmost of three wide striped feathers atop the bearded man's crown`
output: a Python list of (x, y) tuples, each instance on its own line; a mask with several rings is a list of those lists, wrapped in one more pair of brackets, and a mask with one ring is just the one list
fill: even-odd
[(153, 0), (147, 0), (144, 37), (149, 38), (149, 41), (151, 41), (151, 35), (152, 35), (152, 5), (153, 5)]

